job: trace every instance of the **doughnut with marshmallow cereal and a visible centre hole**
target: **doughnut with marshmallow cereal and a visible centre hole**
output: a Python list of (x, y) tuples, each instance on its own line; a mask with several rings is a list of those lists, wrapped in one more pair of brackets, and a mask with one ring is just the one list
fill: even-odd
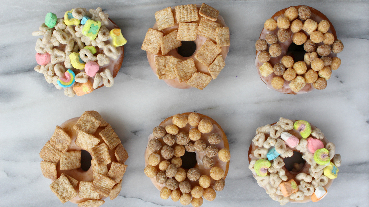
[[(295, 154), (299, 153), (304, 162), (297, 161)], [(295, 159), (289, 158), (292, 156)], [(248, 161), (258, 185), (270, 198), (285, 205), (323, 199), (337, 178), (341, 155), (335, 154), (335, 145), (317, 127), (304, 120), (281, 117), (279, 122), (256, 129)], [(294, 162), (293, 168), (284, 161)]]

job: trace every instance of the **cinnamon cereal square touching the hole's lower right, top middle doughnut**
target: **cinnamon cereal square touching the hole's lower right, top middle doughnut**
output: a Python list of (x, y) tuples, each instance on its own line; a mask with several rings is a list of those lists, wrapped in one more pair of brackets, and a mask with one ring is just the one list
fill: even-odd
[(206, 40), (194, 57), (199, 60), (200, 63), (209, 66), (221, 51), (222, 49), (215, 45), (214, 42)]

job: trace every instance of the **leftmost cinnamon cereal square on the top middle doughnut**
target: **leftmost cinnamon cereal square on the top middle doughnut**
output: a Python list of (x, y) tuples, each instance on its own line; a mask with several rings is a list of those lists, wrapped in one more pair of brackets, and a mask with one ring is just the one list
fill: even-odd
[(160, 50), (160, 40), (163, 35), (164, 34), (162, 32), (149, 28), (146, 32), (144, 42), (142, 42), (141, 49), (157, 55)]

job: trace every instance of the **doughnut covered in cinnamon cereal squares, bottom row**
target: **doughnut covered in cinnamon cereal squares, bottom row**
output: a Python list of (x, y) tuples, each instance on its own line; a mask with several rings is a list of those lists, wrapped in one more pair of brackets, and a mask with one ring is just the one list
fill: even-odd
[(85, 111), (56, 126), (40, 157), (42, 175), (62, 203), (98, 207), (120, 193), (128, 154), (110, 124)]

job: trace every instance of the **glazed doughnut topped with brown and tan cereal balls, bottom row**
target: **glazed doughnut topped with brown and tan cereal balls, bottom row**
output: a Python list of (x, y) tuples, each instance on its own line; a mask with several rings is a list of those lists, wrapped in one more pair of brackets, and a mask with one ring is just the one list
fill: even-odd
[(145, 150), (145, 175), (162, 199), (201, 206), (222, 191), (231, 154), (217, 122), (199, 113), (182, 113), (153, 129)]

